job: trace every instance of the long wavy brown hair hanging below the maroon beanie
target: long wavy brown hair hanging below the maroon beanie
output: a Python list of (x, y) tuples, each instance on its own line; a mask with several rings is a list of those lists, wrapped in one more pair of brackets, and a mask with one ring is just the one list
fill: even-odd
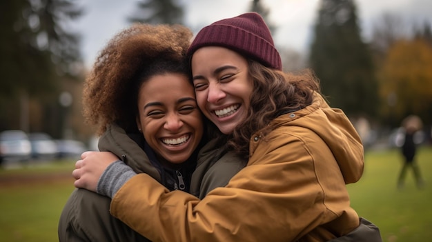
[(228, 146), (242, 157), (249, 156), (249, 141), (261, 130), (265, 137), (274, 127), (268, 125), (280, 114), (311, 105), (314, 92), (320, 92), (319, 80), (311, 70), (297, 74), (266, 68), (248, 60), (248, 74), (253, 79), (253, 92), (246, 119), (233, 130)]

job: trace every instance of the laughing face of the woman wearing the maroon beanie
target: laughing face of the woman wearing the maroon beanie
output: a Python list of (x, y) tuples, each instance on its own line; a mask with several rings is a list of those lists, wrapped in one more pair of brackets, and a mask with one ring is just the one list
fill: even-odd
[(253, 91), (248, 62), (227, 48), (199, 48), (191, 61), (197, 103), (224, 134), (246, 118)]

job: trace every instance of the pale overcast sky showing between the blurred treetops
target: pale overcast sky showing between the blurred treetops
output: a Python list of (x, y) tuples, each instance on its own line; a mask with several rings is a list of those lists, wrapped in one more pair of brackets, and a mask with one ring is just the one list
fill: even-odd
[[(126, 28), (126, 20), (139, 0), (77, 0), (84, 15), (75, 23), (81, 34), (81, 52), (90, 68), (97, 53), (117, 32)], [(277, 46), (304, 52), (308, 48), (319, 0), (261, 0), (270, 11), (270, 21), (277, 26)], [(181, 0), (185, 6), (186, 25), (199, 30), (214, 21), (246, 12), (252, 0)], [(368, 39), (371, 29), (384, 12), (397, 14), (407, 23), (432, 25), (432, 0), (355, 0), (362, 36)], [(195, 31), (194, 31), (195, 32)]]

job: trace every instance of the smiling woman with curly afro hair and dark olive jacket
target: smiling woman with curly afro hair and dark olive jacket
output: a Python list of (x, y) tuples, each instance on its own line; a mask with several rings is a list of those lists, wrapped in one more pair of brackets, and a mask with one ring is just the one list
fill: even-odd
[[(204, 132), (186, 60), (191, 37), (183, 26), (135, 24), (119, 32), (97, 57), (83, 100), (87, 123), (101, 135), (99, 150), (185, 192)], [(148, 241), (109, 209), (108, 196), (75, 190), (60, 217), (59, 241)]]

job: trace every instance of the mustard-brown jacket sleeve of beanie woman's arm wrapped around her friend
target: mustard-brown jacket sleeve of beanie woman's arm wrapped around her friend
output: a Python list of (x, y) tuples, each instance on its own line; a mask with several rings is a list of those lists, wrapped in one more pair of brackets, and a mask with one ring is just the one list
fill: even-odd
[[(117, 192), (110, 211), (151, 241), (296, 241), (323, 223), (350, 215), (355, 221), (341, 223), (340, 230), (356, 228), (358, 216), (349, 208), (337, 164), (326, 169), (340, 192), (333, 201), (338, 204), (328, 208), (324, 203), (315, 159), (331, 152), (311, 150), (297, 137), (268, 138), (226, 187), (202, 200), (169, 192), (147, 174), (137, 174)], [(321, 154), (314, 157), (314, 152)]]

